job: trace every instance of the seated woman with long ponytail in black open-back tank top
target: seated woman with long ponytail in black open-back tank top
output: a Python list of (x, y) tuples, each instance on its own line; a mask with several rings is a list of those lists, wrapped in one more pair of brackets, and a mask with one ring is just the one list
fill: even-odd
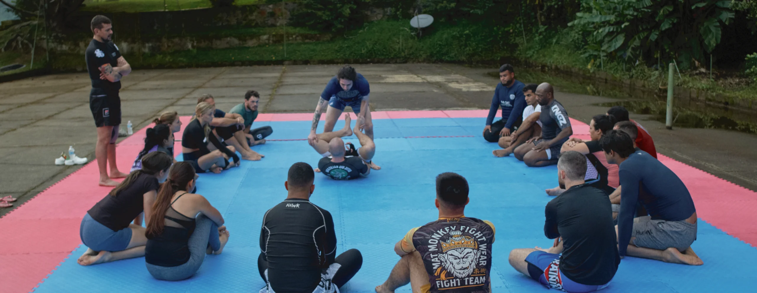
[(194, 185), (194, 167), (179, 162), (157, 193), (145, 247), (147, 270), (155, 279), (191, 277), (200, 269), (205, 254), (220, 254), (229, 241), (221, 213), (202, 195), (186, 192)]

